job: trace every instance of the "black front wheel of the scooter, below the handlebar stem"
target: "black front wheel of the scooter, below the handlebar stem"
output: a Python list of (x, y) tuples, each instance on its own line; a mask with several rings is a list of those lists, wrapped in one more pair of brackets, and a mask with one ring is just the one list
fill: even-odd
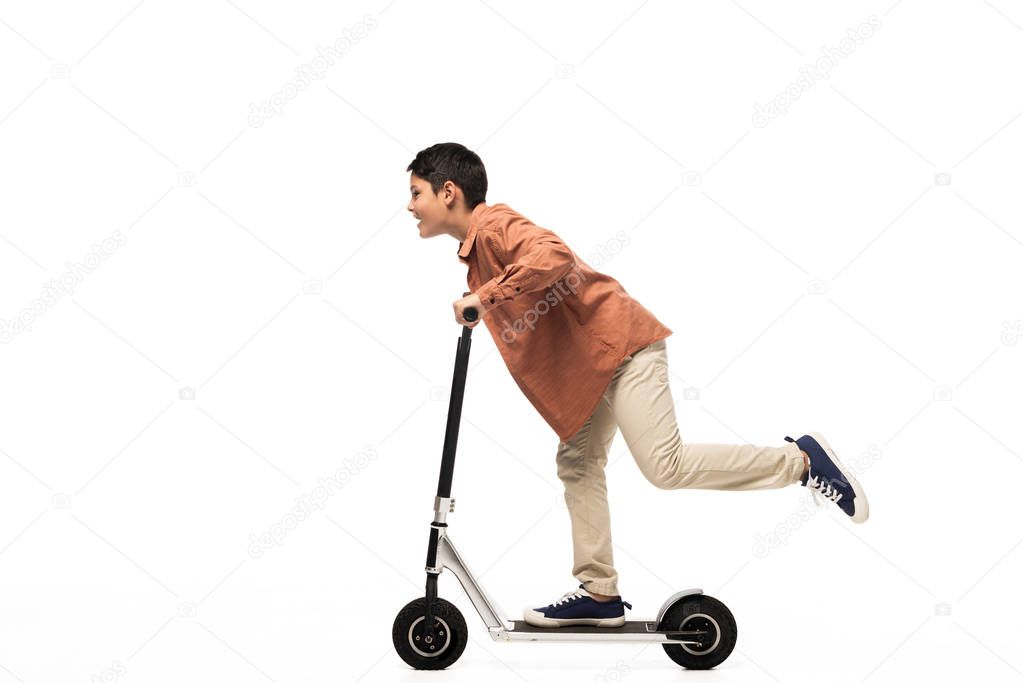
[(461, 656), (469, 628), (461, 612), (444, 598), (434, 601), (434, 637), (427, 642), (427, 598), (406, 604), (394, 619), (394, 649), (413, 669), (446, 669)]

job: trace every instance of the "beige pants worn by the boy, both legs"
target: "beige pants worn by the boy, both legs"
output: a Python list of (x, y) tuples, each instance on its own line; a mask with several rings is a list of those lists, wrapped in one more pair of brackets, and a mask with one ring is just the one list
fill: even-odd
[(558, 445), (558, 476), (572, 518), (572, 574), (594, 593), (618, 595), (604, 467), (619, 427), (639, 470), (659, 489), (780, 489), (803, 473), (803, 455), (794, 443), (777, 448), (683, 443), (668, 386), (665, 340), (639, 349), (615, 370), (579, 431)]

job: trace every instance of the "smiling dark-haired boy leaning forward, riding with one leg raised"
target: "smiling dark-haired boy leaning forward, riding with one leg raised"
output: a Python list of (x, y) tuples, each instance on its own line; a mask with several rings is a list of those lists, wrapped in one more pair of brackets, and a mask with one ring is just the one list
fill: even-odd
[[(643, 475), (659, 489), (750, 491), (796, 482), (819, 506), (831, 500), (865, 521), (866, 497), (824, 437), (810, 432), (781, 447), (683, 443), (668, 386), (665, 337), (672, 330), (598, 273), (550, 230), (507, 204), (486, 203), (483, 162), (445, 142), (417, 153), (408, 211), (419, 236), (451, 235), (469, 267), (471, 291), (453, 304), (455, 320), (486, 321), (504, 363), (530, 403), (558, 434), (558, 476), (572, 521), (579, 588), (545, 607), (526, 609), (541, 627), (625, 623), (612, 563), (604, 467), (621, 428)], [(479, 317), (462, 317), (474, 307)]]

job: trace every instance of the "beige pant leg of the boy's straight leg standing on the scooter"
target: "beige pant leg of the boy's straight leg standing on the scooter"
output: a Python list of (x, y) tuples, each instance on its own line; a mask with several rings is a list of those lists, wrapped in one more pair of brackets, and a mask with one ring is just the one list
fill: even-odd
[(587, 590), (618, 595), (611, 543), (611, 513), (604, 467), (618, 430), (607, 400), (567, 442), (558, 444), (558, 476), (572, 520), (572, 574)]

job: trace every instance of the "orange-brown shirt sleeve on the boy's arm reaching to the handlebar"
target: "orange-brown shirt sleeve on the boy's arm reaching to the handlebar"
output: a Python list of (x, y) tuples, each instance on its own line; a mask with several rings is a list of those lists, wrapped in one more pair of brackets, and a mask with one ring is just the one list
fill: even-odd
[(544, 289), (575, 267), (572, 251), (558, 235), (522, 217), (505, 226), (499, 245), (507, 265), (499, 275), (476, 290), (484, 311), (521, 294)]

